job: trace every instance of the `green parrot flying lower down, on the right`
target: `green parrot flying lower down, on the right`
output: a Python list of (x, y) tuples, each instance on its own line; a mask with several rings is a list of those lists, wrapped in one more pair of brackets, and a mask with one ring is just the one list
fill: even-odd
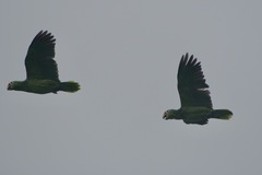
[(188, 54), (182, 56), (177, 79), (181, 107), (166, 110), (164, 119), (182, 119), (186, 124), (205, 125), (210, 118), (229, 119), (233, 116), (228, 109), (213, 109), (201, 63), (193, 55), (190, 58)]

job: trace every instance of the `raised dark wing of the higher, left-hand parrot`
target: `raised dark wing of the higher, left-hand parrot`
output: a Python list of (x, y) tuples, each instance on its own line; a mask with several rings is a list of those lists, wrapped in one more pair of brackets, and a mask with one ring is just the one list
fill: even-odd
[(49, 79), (59, 81), (55, 57), (56, 39), (47, 31), (40, 31), (29, 45), (26, 58), (26, 79)]

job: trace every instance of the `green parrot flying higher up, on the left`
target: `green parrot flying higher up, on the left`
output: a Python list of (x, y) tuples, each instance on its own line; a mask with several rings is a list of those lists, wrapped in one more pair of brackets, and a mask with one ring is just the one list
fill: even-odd
[(29, 45), (25, 57), (26, 80), (12, 81), (8, 90), (36, 94), (76, 92), (80, 84), (73, 81), (60, 82), (55, 57), (56, 39), (47, 31), (40, 31)]

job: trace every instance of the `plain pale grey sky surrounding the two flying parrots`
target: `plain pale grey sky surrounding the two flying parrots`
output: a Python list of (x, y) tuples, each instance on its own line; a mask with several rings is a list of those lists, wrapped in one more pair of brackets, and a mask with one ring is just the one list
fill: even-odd
[[(252, 175), (262, 172), (262, 1), (0, 0), (1, 175)], [(74, 94), (7, 91), (34, 36), (56, 39)], [(163, 120), (179, 108), (181, 56), (202, 62), (230, 120)]]

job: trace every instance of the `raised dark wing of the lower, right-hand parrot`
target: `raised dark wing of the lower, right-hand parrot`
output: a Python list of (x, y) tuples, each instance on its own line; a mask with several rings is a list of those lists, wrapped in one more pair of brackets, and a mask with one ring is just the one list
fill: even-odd
[(182, 56), (178, 68), (178, 92), (181, 107), (202, 106), (212, 108), (209, 85), (205, 83), (200, 62), (193, 55)]

